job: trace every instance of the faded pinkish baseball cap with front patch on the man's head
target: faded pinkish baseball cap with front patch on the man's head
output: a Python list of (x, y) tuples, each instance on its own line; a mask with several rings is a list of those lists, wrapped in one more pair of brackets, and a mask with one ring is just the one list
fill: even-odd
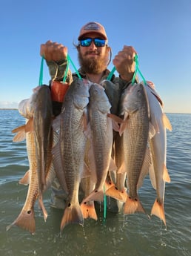
[(78, 40), (80, 40), (87, 33), (98, 33), (103, 39), (107, 40), (107, 34), (105, 33), (104, 27), (98, 22), (88, 22), (83, 27), (81, 27)]

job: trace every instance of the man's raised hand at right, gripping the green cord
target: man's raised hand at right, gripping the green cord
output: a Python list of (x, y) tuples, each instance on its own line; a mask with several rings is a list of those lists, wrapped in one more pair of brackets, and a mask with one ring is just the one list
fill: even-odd
[(132, 46), (124, 45), (123, 50), (119, 51), (113, 59), (113, 65), (121, 76), (121, 79), (130, 81), (133, 79), (135, 72), (135, 57), (136, 51)]

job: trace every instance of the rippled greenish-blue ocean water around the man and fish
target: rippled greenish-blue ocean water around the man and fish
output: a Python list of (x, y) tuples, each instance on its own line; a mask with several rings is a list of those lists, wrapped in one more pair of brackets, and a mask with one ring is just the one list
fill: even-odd
[[(166, 184), (164, 208), (167, 228), (157, 217), (124, 215), (98, 211), (98, 221), (85, 220), (84, 226), (69, 225), (62, 234), (63, 211), (50, 208), (50, 193), (44, 195), (47, 222), (36, 204), (34, 235), (14, 226), (24, 205), (27, 186), (19, 179), (28, 170), (25, 141), (13, 142), (13, 128), (24, 124), (16, 110), (0, 110), (0, 255), (11, 256), (189, 256), (191, 255), (191, 114), (167, 114), (172, 132), (167, 131), (167, 168), (171, 183)], [(139, 190), (147, 213), (155, 201), (155, 190), (146, 177)]]

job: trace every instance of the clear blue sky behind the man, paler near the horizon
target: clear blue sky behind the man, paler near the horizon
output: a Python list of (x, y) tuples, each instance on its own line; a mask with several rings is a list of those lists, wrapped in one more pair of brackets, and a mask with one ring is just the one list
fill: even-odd
[[(0, 108), (31, 96), (38, 85), (40, 45), (47, 40), (67, 46), (79, 68), (73, 42), (93, 21), (104, 25), (113, 58), (124, 45), (135, 47), (139, 69), (154, 82), (165, 112), (191, 113), (190, 0), (1, 1)], [(44, 84), (49, 80), (44, 63)]]

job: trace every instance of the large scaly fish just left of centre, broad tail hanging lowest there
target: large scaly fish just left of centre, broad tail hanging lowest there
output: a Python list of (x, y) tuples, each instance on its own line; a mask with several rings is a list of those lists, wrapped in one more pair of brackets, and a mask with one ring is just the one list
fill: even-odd
[(68, 193), (67, 207), (61, 220), (61, 230), (68, 223), (84, 223), (78, 203), (78, 188), (84, 168), (87, 141), (84, 131), (87, 125), (89, 88), (89, 83), (75, 80), (66, 93), (61, 114), (57, 118), (59, 141), (53, 148), (53, 158), (59, 162), (59, 168), (56, 170), (58, 180)]

